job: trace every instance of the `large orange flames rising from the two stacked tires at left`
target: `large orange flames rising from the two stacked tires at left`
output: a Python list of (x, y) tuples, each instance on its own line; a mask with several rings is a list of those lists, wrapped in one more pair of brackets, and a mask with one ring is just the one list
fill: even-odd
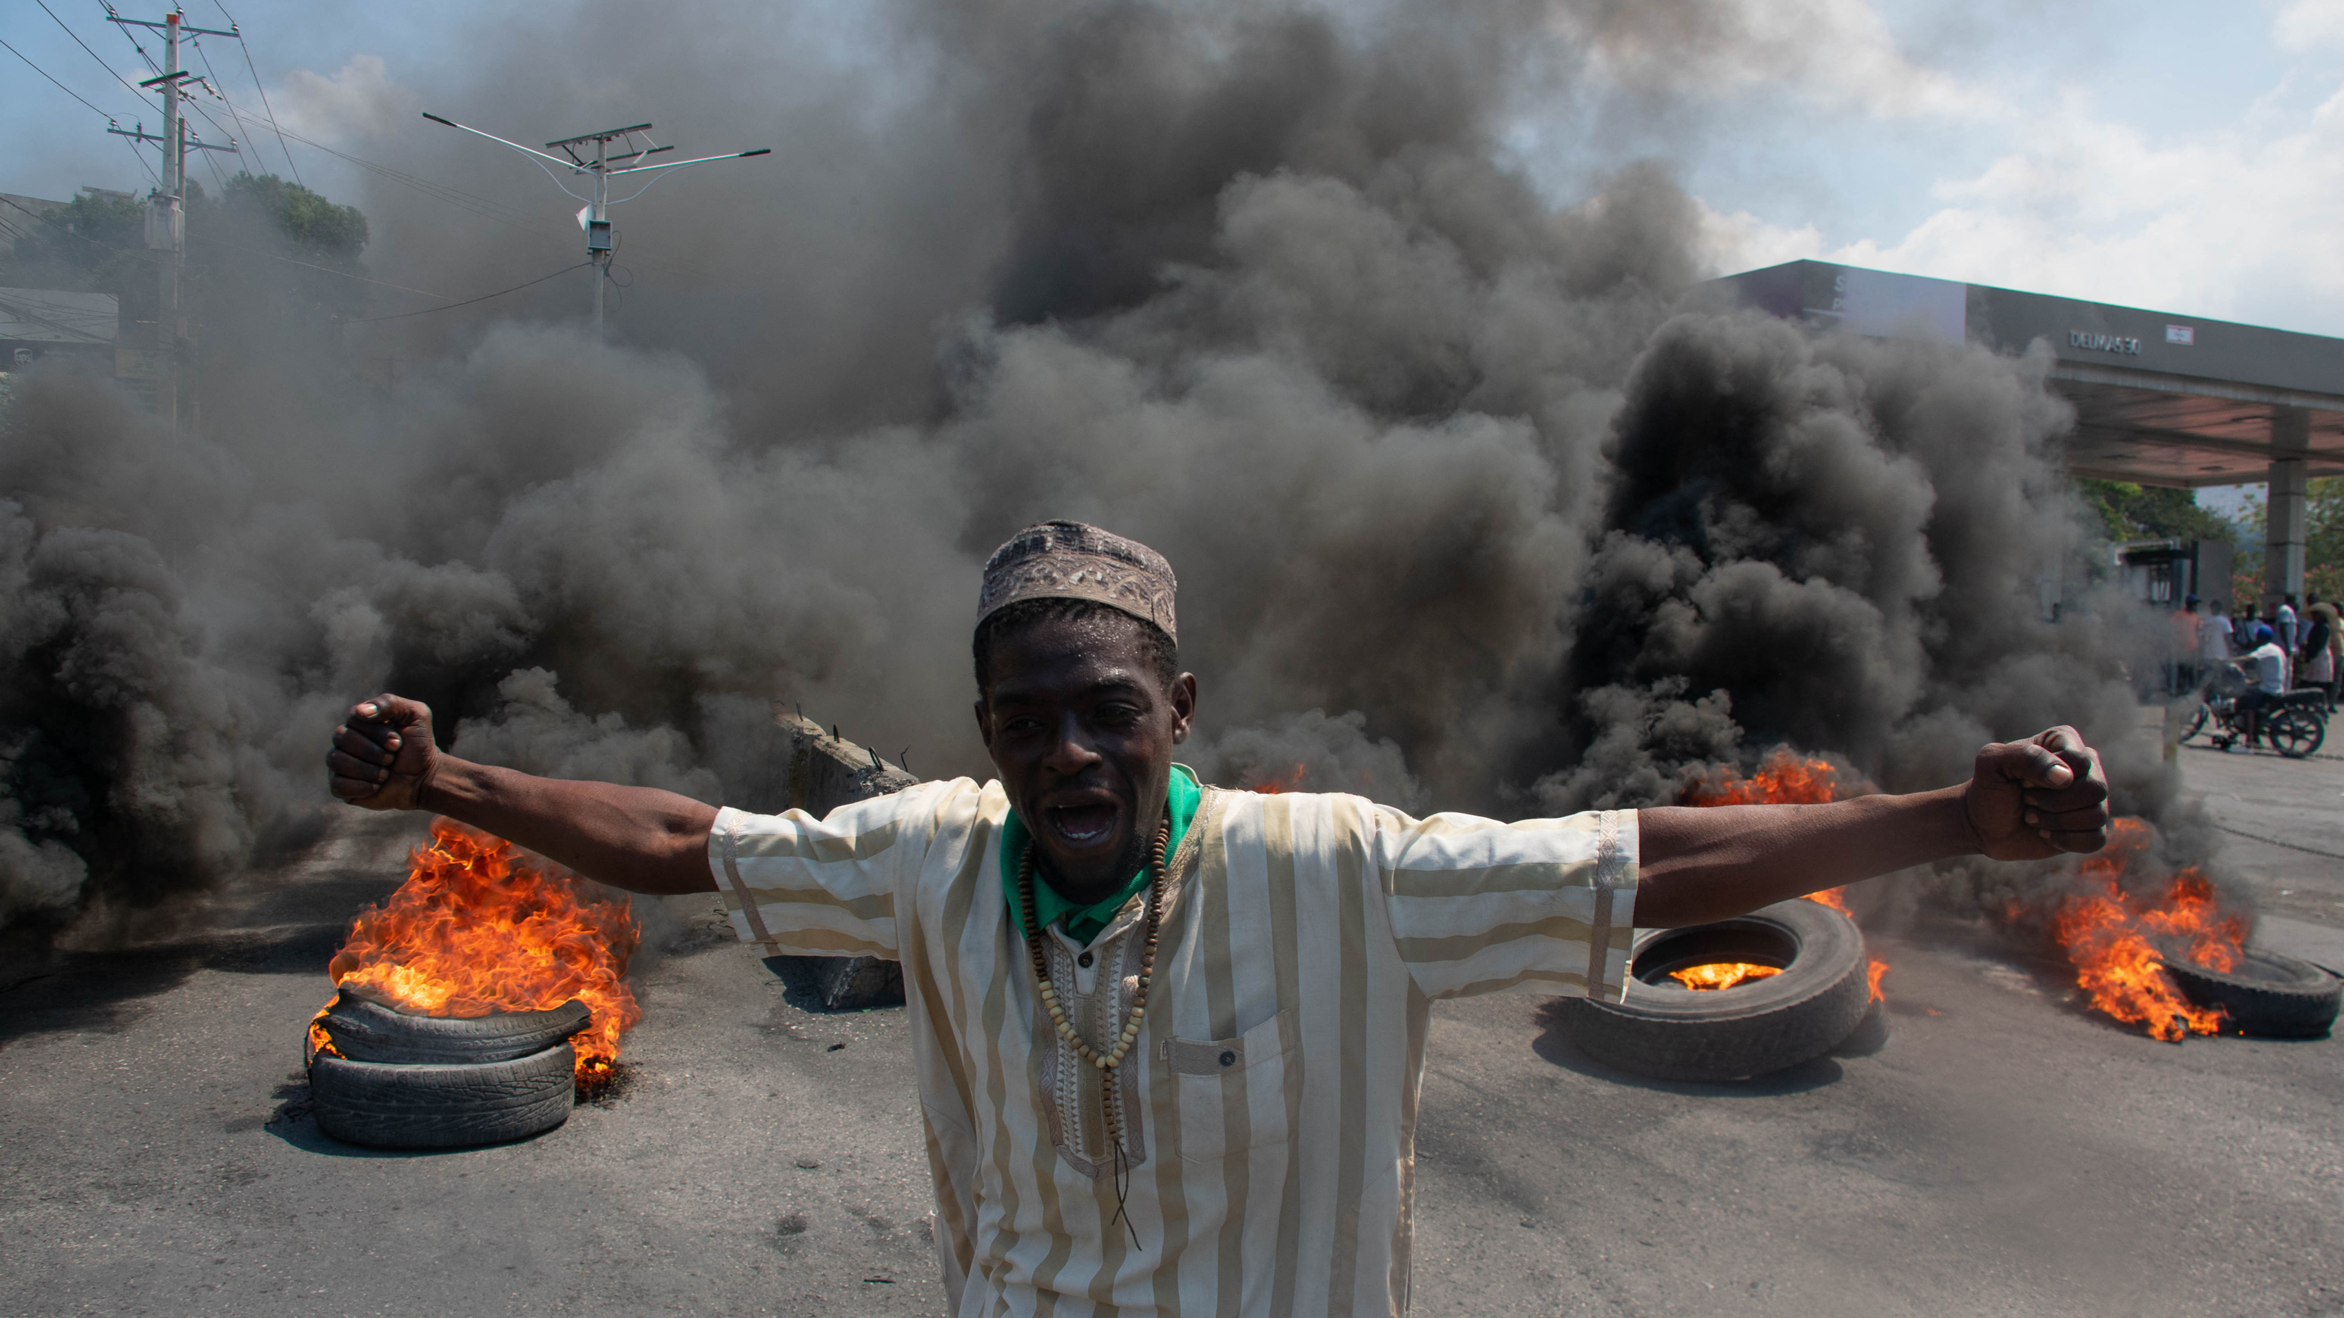
[[(614, 1074), (619, 1034), (642, 1020), (626, 987), (638, 938), (626, 901), (539, 868), (511, 842), (434, 818), (431, 842), (410, 856), (408, 882), (359, 915), (326, 973), (422, 1015), (544, 1011), (579, 999), (593, 1023), (570, 1044), (577, 1079), (591, 1086)], [(316, 1020), (309, 1044), (333, 1048)]]

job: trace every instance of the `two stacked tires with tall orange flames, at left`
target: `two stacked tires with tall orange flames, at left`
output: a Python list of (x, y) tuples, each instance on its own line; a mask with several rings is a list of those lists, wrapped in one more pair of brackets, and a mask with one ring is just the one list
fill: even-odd
[(635, 943), (624, 901), (431, 821), (408, 882), (328, 966), (340, 992), (309, 1020), (319, 1128), (429, 1149), (560, 1126), (616, 1079), (619, 1037), (642, 1020)]

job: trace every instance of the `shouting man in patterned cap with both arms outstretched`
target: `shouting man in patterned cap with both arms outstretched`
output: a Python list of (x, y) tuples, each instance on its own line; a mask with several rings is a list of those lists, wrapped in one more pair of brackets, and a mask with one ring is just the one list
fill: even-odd
[(333, 793), (431, 809), (741, 938), (902, 962), (935, 1243), (959, 1316), (1397, 1313), (1432, 999), (1617, 1001), (1634, 926), (1723, 919), (1946, 856), (2098, 851), (2067, 727), (1962, 786), (1831, 804), (1409, 818), (1172, 762), (1195, 718), (1172, 568), (1031, 525), (984, 565), (977, 734), (1001, 779), (778, 816), (534, 779), (375, 697)]

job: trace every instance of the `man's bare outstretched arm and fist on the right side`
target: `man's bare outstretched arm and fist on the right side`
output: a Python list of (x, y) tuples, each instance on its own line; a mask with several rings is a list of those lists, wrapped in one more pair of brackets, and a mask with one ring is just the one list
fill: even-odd
[(2100, 753), (2072, 727), (1978, 750), (1969, 783), (1831, 804), (1636, 811), (1636, 924), (1671, 929), (1950, 856), (2039, 861), (2107, 844)]

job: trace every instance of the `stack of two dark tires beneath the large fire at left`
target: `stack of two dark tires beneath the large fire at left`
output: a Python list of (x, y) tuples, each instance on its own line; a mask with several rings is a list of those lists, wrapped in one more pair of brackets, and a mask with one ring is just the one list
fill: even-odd
[(410, 1015), (354, 985), (319, 1025), (309, 1058), (319, 1130), (373, 1149), (457, 1149), (523, 1140), (570, 1119), (584, 1001), (476, 1018)]

